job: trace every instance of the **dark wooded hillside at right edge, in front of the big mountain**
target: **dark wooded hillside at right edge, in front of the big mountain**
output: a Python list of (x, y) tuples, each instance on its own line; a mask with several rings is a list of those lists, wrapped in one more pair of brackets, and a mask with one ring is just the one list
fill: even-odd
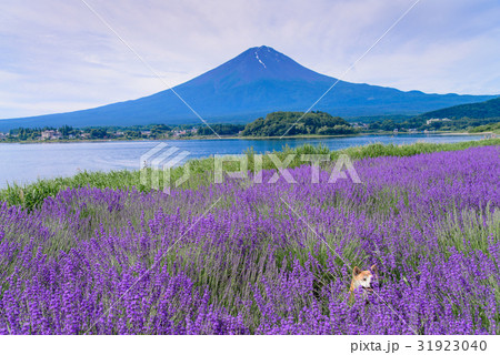
[(500, 118), (500, 98), (484, 102), (459, 104), (421, 114), (424, 119), (491, 119)]

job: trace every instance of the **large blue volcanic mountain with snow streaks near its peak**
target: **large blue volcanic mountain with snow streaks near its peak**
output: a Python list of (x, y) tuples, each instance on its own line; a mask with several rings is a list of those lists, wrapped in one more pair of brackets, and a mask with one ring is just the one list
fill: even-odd
[[(337, 79), (309, 70), (269, 47), (251, 48), (174, 90), (209, 122), (248, 122), (271, 111), (306, 111)], [(340, 81), (314, 106), (333, 115), (419, 114), (491, 95), (426, 94)], [(0, 131), (17, 126), (199, 123), (170, 91), (96, 109), (0, 120)]]

